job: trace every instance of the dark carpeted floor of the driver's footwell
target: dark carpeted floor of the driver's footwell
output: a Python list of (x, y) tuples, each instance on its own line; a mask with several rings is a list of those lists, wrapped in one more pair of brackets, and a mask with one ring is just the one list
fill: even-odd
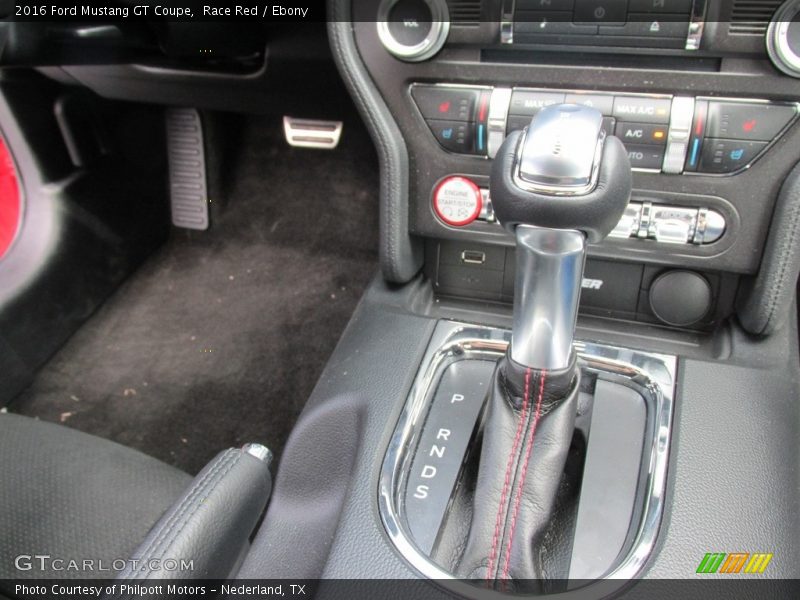
[(332, 152), (289, 148), (274, 117), (221, 124), (212, 229), (173, 232), (13, 412), (190, 473), (280, 451), (377, 269), (377, 162), (355, 120)]

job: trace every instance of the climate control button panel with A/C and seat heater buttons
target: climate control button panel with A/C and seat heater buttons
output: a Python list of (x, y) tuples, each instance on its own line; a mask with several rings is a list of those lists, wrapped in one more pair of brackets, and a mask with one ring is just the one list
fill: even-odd
[(634, 170), (670, 174), (740, 172), (798, 116), (795, 102), (584, 90), (414, 84), (411, 97), (444, 150), (487, 158), (546, 106), (592, 106)]

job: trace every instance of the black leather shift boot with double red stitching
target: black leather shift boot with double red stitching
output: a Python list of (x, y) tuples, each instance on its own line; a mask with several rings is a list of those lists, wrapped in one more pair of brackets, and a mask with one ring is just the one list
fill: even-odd
[(469, 537), (458, 567), (488, 587), (536, 590), (542, 542), (575, 427), (579, 371), (538, 371), (503, 358), (487, 407)]

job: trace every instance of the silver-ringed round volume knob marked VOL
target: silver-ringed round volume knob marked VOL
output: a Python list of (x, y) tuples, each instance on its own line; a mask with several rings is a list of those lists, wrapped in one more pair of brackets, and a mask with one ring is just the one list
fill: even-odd
[(409, 62), (434, 56), (450, 32), (445, 0), (383, 0), (378, 37), (391, 54)]

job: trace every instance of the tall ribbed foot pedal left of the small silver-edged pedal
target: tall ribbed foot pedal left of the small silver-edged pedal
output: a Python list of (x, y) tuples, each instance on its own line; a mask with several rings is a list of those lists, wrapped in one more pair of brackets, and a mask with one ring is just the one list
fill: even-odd
[(194, 108), (170, 108), (167, 157), (172, 224), (185, 229), (208, 229), (208, 188), (203, 124)]

